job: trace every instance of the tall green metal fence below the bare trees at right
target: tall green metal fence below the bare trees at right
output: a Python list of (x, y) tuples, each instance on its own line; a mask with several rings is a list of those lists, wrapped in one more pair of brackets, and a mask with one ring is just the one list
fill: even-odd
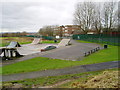
[(76, 40), (84, 40), (84, 41), (90, 41), (95, 43), (120, 46), (119, 35), (80, 34), (80, 35), (73, 35), (72, 38)]

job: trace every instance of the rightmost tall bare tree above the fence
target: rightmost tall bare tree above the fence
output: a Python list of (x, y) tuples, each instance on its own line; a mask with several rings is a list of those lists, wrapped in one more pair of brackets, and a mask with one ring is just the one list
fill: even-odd
[(105, 31), (112, 31), (118, 16), (118, 5), (116, 2), (105, 2), (103, 6), (103, 24)]

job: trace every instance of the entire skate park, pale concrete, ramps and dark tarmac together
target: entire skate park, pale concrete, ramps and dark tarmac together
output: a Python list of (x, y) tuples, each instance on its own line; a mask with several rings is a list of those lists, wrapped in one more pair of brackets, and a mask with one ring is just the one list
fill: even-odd
[[(3, 60), (2, 64), (11, 64), (14, 62), (19, 62), (27, 59), (31, 59), (33, 57), (48, 57), (52, 59), (62, 59), (62, 60), (72, 60), (78, 61), (82, 60), (88, 53), (92, 53), (92, 50), (97, 51), (97, 48), (103, 49), (101, 45), (93, 44), (93, 43), (78, 43), (72, 39), (62, 39), (60, 43), (56, 44), (41, 44), (42, 40), (40, 38), (34, 38), (33, 42), (30, 44), (20, 45), (19, 42), (11, 42), (4, 49), (14, 49), (12, 57), (18, 57), (13, 60)], [(69, 45), (70, 44), (70, 45)], [(41, 48), (53, 45), (56, 46), (56, 49), (41, 52)], [(1, 48), (3, 49), (3, 48)], [(15, 54), (15, 51), (17, 54)], [(7, 50), (8, 54), (6, 57), (11, 58), (10, 51)], [(5, 55), (6, 52), (2, 52), (1, 56)], [(86, 54), (85, 54), (86, 53)], [(93, 52), (94, 53), (94, 52)], [(16, 56), (17, 55), (17, 56)], [(22, 57), (21, 57), (22, 56)]]

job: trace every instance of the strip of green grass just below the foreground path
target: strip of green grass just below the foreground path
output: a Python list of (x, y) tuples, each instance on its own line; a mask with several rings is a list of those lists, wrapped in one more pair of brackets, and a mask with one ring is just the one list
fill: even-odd
[[(118, 70), (118, 69), (108, 69), (109, 71), (114, 71), (114, 70)], [(40, 77), (40, 78), (34, 78), (34, 79), (24, 79), (24, 80), (17, 80), (17, 81), (9, 81), (9, 82), (3, 82), (3, 87), (8, 85), (12, 85), (12, 84), (22, 84), (23, 87), (29, 87), (31, 88), (32, 85), (34, 84), (36, 87), (40, 87), (40, 86), (48, 86), (48, 85), (52, 85), (64, 80), (68, 80), (68, 79), (75, 79), (75, 78), (80, 78), (80, 79), (84, 79), (87, 78), (88, 76), (93, 76), (93, 75), (98, 75), (100, 73), (102, 73), (104, 70), (100, 70), (100, 71), (94, 71), (94, 72), (85, 72), (85, 73), (79, 73), (79, 74), (70, 74), (70, 75), (60, 75), (60, 76), (48, 76), (48, 77)], [(70, 82), (71, 83), (71, 82)], [(67, 85), (69, 85), (70, 83), (67, 84), (63, 84), (60, 87), (65, 87)]]

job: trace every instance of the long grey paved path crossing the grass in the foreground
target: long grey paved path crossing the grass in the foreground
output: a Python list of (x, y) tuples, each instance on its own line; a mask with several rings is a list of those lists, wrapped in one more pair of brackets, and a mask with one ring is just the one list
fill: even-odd
[(109, 68), (118, 68), (119, 67), (118, 63), (120, 63), (120, 61), (81, 65), (81, 66), (74, 66), (74, 67), (56, 69), (56, 70), (35, 71), (35, 72), (29, 72), (29, 73), (3, 75), (2, 80), (12, 81), (12, 80), (22, 80), (27, 78), (44, 77), (44, 76), (57, 76), (57, 75), (66, 75), (66, 74), (76, 74), (76, 73), (82, 73), (82, 72), (88, 72), (88, 71), (98, 71), (98, 70), (104, 70)]

